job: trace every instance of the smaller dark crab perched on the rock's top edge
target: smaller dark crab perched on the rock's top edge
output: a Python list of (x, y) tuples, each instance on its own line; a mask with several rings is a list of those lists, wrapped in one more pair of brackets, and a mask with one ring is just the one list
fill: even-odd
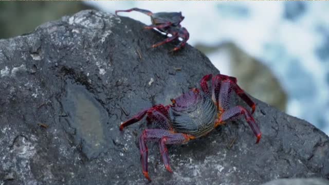
[(161, 32), (166, 33), (166, 35), (171, 34), (169, 38), (167, 38), (164, 41), (158, 42), (156, 44), (153, 44), (151, 47), (155, 48), (157, 46), (160, 46), (162, 44), (171, 42), (175, 39), (181, 38), (182, 41), (171, 51), (179, 50), (181, 47), (183, 47), (187, 40), (189, 40), (189, 32), (186, 30), (186, 28), (181, 27), (180, 22), (184, 20), (184, 16), (181, 15), (181, 12), (158, 12), (158, 13), (152, 13), (149, 10), (143, 10), (139, 8), (131, 8), (128, 10), (116, 10), (115, 14), (117, 15), (118, 12), (131, 12), (131, 11), (138, 11), (144, 14), (147, 14), (151, 17), (152, 25), (145, 26), (145, 29), (158, 29)]

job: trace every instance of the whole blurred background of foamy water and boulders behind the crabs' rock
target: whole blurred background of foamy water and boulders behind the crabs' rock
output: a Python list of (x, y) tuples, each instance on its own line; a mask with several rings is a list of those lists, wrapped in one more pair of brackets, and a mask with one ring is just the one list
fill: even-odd
[[(83, 9), (179, 12), (188, 43), (250, 95), (329, 135), (329, 2), (0, 2), (0, 39)], [(139, 12), (120, 12), (151, 24)]]

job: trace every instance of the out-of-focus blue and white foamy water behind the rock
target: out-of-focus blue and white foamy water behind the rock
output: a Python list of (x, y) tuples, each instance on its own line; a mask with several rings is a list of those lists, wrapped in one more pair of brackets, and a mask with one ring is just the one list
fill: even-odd
[[(288, 95), (290, 115), (329, 134), (329, 2), (95, 1), (103, 11), (133, 7), (152, 12), (181, 11), (189, 44), (232, 41), (275, 73)], [(150, 17), (121, 12), (145, 24)], [(209, 56), (229, 75), (225, 55)]]

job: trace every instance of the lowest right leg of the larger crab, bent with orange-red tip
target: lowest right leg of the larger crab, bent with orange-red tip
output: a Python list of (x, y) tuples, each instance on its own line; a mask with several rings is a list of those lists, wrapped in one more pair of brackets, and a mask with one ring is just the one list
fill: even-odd
[[(228, 110), (225, 110), (224, 113), (221, 115), (220, 120), (218, 121), (218, 124), (221, 124), (229, 119), (236, 118), (238, 116), (244, 115), (246, 121), (248, 122), (252, 132), (257, 137), (256, 143), (259, 143), (262, 133), (258, 127), (258, 125), (255, 123), (255, 120), (251, 116), (251, 114), (242, 106), (235, 106), (233, 108), (230, 108)], [(216, 126), (217, 126), (216, 125)]]

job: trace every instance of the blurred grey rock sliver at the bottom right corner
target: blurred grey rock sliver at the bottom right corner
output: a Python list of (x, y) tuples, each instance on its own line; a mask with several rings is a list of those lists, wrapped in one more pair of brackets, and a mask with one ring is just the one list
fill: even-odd
[(263, 185), (328, 185), (329, 181), (320, 178), (278, 179)]

